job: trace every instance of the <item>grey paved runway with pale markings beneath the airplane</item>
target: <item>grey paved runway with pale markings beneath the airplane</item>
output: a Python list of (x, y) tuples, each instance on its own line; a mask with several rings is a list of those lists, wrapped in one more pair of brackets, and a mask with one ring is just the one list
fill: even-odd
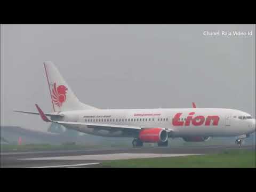
[[(196, 147), (140, 147), (1, 153), (1, 167), (90, 168), (101, 167), (101, 162), (115, 159), (204, 155), (219, 153), (229, 149), (238, 149), (238, 147), (236, 145)], [(255, 150), (255, 146), (242, 146), (241, 149)]]

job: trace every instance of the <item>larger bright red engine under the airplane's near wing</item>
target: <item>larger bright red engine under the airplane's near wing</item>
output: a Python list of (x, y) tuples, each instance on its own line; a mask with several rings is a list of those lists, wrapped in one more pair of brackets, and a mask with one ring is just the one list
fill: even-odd
[(143, 129), (139, 133), (139, 139), (142, 142), (165, 142), (168, 139), (168, 134), (161, 128)]

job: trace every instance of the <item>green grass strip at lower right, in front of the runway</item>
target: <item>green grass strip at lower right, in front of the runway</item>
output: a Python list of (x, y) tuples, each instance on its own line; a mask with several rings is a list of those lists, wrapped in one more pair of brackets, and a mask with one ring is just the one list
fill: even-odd
[(231, 168), (256, 167), (255, 150), (228, 150), (220, 154), (196, 155), (184, 157), (161, 157), (106, 161), (102, 167), (134, 167), (134, 168)]

